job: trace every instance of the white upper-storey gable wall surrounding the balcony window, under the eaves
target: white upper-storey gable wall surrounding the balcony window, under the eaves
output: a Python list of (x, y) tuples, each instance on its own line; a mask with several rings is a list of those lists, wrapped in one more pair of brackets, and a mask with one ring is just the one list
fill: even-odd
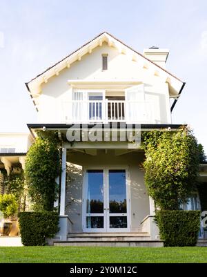
[[(108, 70), (101, 70), (101, 55), (108, 53)], [(170, 123), (170, 105), (168, 85), (154, 71), (146, 69), (143, 64), (132, 61), (128, 55), (120, 54), (117, 49), (103, 44), (86, 54), (81, 61), (75, 61), (70, 68), (62, 70), (58, 76), (51, 77), (42, 84), (39, 102), (40, 123), (60, 123), (63, 121), (63, 101), (70, 101), (72, 90), (69, 79), (117, 81), (117, 79), (139, 80), (146, 84), (146, 101), (152, 102), (155, 113), (154, 122)]]

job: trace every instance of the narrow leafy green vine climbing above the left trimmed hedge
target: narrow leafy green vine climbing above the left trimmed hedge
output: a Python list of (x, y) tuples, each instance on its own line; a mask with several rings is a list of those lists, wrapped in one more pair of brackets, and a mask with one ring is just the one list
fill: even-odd
[(60, 173), (59, 140), (52, 132), (38, 132), (26, 157), (26, 182), (34, 211), (52, 211), (57, 199), (55, 179)]

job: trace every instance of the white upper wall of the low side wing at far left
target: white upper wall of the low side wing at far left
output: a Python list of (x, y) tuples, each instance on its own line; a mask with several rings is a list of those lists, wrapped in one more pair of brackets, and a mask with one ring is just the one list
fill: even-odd
[(26, 153), (31, 144), (32, 138), (28, 133), (0, 133), (0, 149), (15, 148), (15, 153)]

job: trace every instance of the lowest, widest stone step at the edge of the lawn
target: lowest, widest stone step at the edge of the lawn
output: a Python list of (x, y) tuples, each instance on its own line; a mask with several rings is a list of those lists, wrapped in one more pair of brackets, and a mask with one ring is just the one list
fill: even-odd
[(55, 241), (54, 246), (69, 246), (69, 247), (163, 247), (164, 244), (160, 240), (142, 240), (142, 241)]

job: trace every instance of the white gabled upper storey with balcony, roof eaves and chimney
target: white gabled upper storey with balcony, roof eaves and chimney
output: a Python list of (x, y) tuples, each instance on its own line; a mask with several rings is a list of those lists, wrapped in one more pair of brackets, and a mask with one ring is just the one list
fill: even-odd
[(170, 98), (184, 83), (165, 70), (167, 57), (166, 49), (141, 55), (104, 32), (26, 84), (39, 123), (171, 124)]

